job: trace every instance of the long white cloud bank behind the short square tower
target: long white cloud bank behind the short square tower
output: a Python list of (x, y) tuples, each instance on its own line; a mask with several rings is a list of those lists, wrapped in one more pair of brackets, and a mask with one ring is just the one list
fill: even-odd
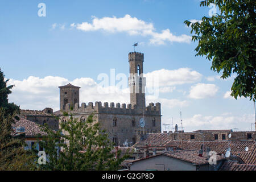
[[(9, 85), (15, 85), (13, 93), (9, 96), (10, 102), (20, 105), (21, 109), (42, 110), (45, 107), (52, 107), (59, 110), (59, 88), (69, 82), (80, 86), (81, 102), (129, 102), (129, 94), (125, 92), (112, 92), (111, 87), (101, 88), (98, 92), (98, 84), (92, 78), (76, 78), (69, 81), (66, 78), (47, 76), (38, 78), (30, 76), (22, 81), (10, 79)], [(115, 88), (114, 88), (115, 89)]]

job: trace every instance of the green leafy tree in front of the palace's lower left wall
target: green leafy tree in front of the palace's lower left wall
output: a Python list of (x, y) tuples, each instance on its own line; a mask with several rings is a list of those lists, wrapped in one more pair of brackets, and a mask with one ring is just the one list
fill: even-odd
[[(48, 156), (46, 170), (117, 170), (128, 155), (114, 158), (110, 152), (114, 149), (105, 131), (100, 131), (99, 124), (90, 115), (85, 122), (68, 116), (67, 122), (60, 123), (60, 130), (53, 131), (47, 126), (42, 130), (47, 133), (40, 145)], [(58, 147), (61, 151), (58, 151)], [(59, 154), (58, 154), (59, 153)], [(120, 151), (118, 151), (120, 156)]]

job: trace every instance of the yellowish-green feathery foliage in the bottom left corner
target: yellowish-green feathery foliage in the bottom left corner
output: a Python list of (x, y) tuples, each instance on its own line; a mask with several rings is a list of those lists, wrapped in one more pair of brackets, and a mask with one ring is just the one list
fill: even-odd
[(13, 137), (11, 129), (14, 115), (7, 115), (0, 107), (0, 171), (2, 170), (34, 170), (36, 155), (24, 150), (23, 136)]

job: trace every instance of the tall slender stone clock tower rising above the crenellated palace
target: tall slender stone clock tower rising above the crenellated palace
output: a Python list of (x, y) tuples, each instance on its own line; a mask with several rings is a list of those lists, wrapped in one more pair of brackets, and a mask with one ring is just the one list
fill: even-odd
[(146, 78), (143, 77), (144, 55), (140, 52), (129, 53), (130, 76), (130, 104), (137, 105), (137, 109), (145, 109)]

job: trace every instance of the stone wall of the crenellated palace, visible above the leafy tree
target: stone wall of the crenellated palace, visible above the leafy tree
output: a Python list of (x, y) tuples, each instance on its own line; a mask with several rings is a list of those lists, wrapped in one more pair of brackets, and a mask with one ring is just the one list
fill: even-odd
[[(118, 144), (123, 145), (127, 139), (129, 145), (132, 145), (134, 142), (138, 141), (139, 135), (141, 133), (160, 133), (161, 132), (161, 111), (160, 103), (150, 103), (145, 110), (137, 109), (136, 105), (122, 104), (122, 106), (117, 103), (116, 105), (111, 102), (110, 105), (108, 102), (104, 103), (104, 106), (101, 105), (101, 102), (96, 102), (93, 105), (93, 102), (89, 102), (88, 105), (82, 103), (81, 106), (75, 104), (73, 110), (70, 109), (70, 104), (65, 106), (65, 111), (72, 113), (73, 117), (78, 118), (80, 121), (85, 119), (90, 115), (94, 114), (96, 122), (100, 123), (100, 129), (106, 130), (109, 134), (109, 138), (117, 137)], [(113, 120), (117, 119), (117, 126), (113, 126)], [(142, 129), (139, 126), (139, 119), (144, 118), (145, 127)], [(67, 120), (68, 117), (60, 116), (60, 121)], [(135, 121), (135, 126), (132, 125), (132, 121)], [(153, 126), (153, 120), (155, 120), (155, 126)]]

